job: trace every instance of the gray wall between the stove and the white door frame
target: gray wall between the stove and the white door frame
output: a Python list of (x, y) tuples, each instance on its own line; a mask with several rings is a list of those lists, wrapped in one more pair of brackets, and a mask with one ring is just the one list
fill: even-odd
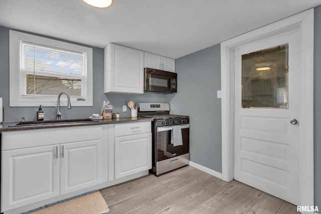
[(173, 113), (190, 116), (190, 159), (222, 172), (220, 44), (176, 60), (178, 94)]

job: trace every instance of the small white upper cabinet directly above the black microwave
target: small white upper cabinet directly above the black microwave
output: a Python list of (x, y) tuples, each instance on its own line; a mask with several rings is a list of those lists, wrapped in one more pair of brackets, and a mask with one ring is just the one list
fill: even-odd
[(145, 52), (144, 67), (175, 72), (175, 60)]

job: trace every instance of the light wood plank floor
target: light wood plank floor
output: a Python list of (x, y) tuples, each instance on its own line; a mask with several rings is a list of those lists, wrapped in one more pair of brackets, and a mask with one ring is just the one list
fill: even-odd
[(298, 213), (251, 186), (225, 182), (191, 166), (100, 190), (112, 213)]

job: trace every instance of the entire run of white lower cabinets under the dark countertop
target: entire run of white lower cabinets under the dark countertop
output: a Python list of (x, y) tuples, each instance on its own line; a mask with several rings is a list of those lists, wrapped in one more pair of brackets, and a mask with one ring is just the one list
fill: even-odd
[(151, 168), (150, 121), (8, 131), (1, 137), (0, 212), (114, 185)]

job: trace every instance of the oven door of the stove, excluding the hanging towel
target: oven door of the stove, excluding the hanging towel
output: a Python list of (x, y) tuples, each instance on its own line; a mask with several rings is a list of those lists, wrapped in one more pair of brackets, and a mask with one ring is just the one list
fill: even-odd
[(156, 161), (165, 160), (181, 154), (189, 153), (190, 149), (190, 124), (180, 125), (182, 130), (183, 145), (172, 144), (173, 126), (157, 127), (156, 134)]

